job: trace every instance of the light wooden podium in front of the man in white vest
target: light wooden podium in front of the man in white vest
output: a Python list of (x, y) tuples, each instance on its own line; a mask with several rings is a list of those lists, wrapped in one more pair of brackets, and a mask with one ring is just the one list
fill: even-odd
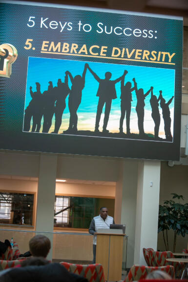
[[(113, 230), (111, 230), (113, 232)], [(104, 268), (107, 281), (122, 279), (123, 239), (125, 234), (95, 233), (97, 235), (96, 263)]]

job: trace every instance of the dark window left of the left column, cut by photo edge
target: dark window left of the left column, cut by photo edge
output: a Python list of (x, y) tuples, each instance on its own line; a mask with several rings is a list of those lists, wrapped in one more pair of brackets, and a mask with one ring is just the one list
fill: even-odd
[(33, 225), (34, 194), (0, 192), (0, 223)]

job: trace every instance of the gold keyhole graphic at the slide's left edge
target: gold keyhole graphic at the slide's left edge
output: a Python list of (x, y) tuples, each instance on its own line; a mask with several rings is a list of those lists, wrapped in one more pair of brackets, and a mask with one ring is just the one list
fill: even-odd
[(0, 45), (0, 77), (10, 78), (12, 63), (18, 57), (17, 49), (8, 43)]

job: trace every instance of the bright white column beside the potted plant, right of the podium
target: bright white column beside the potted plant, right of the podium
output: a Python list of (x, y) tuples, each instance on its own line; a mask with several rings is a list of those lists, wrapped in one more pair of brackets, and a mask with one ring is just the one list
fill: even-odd
[(146, 265), (143, 248), (157, 249), (160, 161), (139, 161), (134, 264)]

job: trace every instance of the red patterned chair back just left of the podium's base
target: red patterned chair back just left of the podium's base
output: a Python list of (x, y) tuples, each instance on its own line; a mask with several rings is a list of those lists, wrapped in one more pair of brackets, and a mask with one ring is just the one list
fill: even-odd
[(73, 264), (60, 262), (69, 272), (86, 278), (89, 282), (104, 282), (103, 266), (96, 264)]

